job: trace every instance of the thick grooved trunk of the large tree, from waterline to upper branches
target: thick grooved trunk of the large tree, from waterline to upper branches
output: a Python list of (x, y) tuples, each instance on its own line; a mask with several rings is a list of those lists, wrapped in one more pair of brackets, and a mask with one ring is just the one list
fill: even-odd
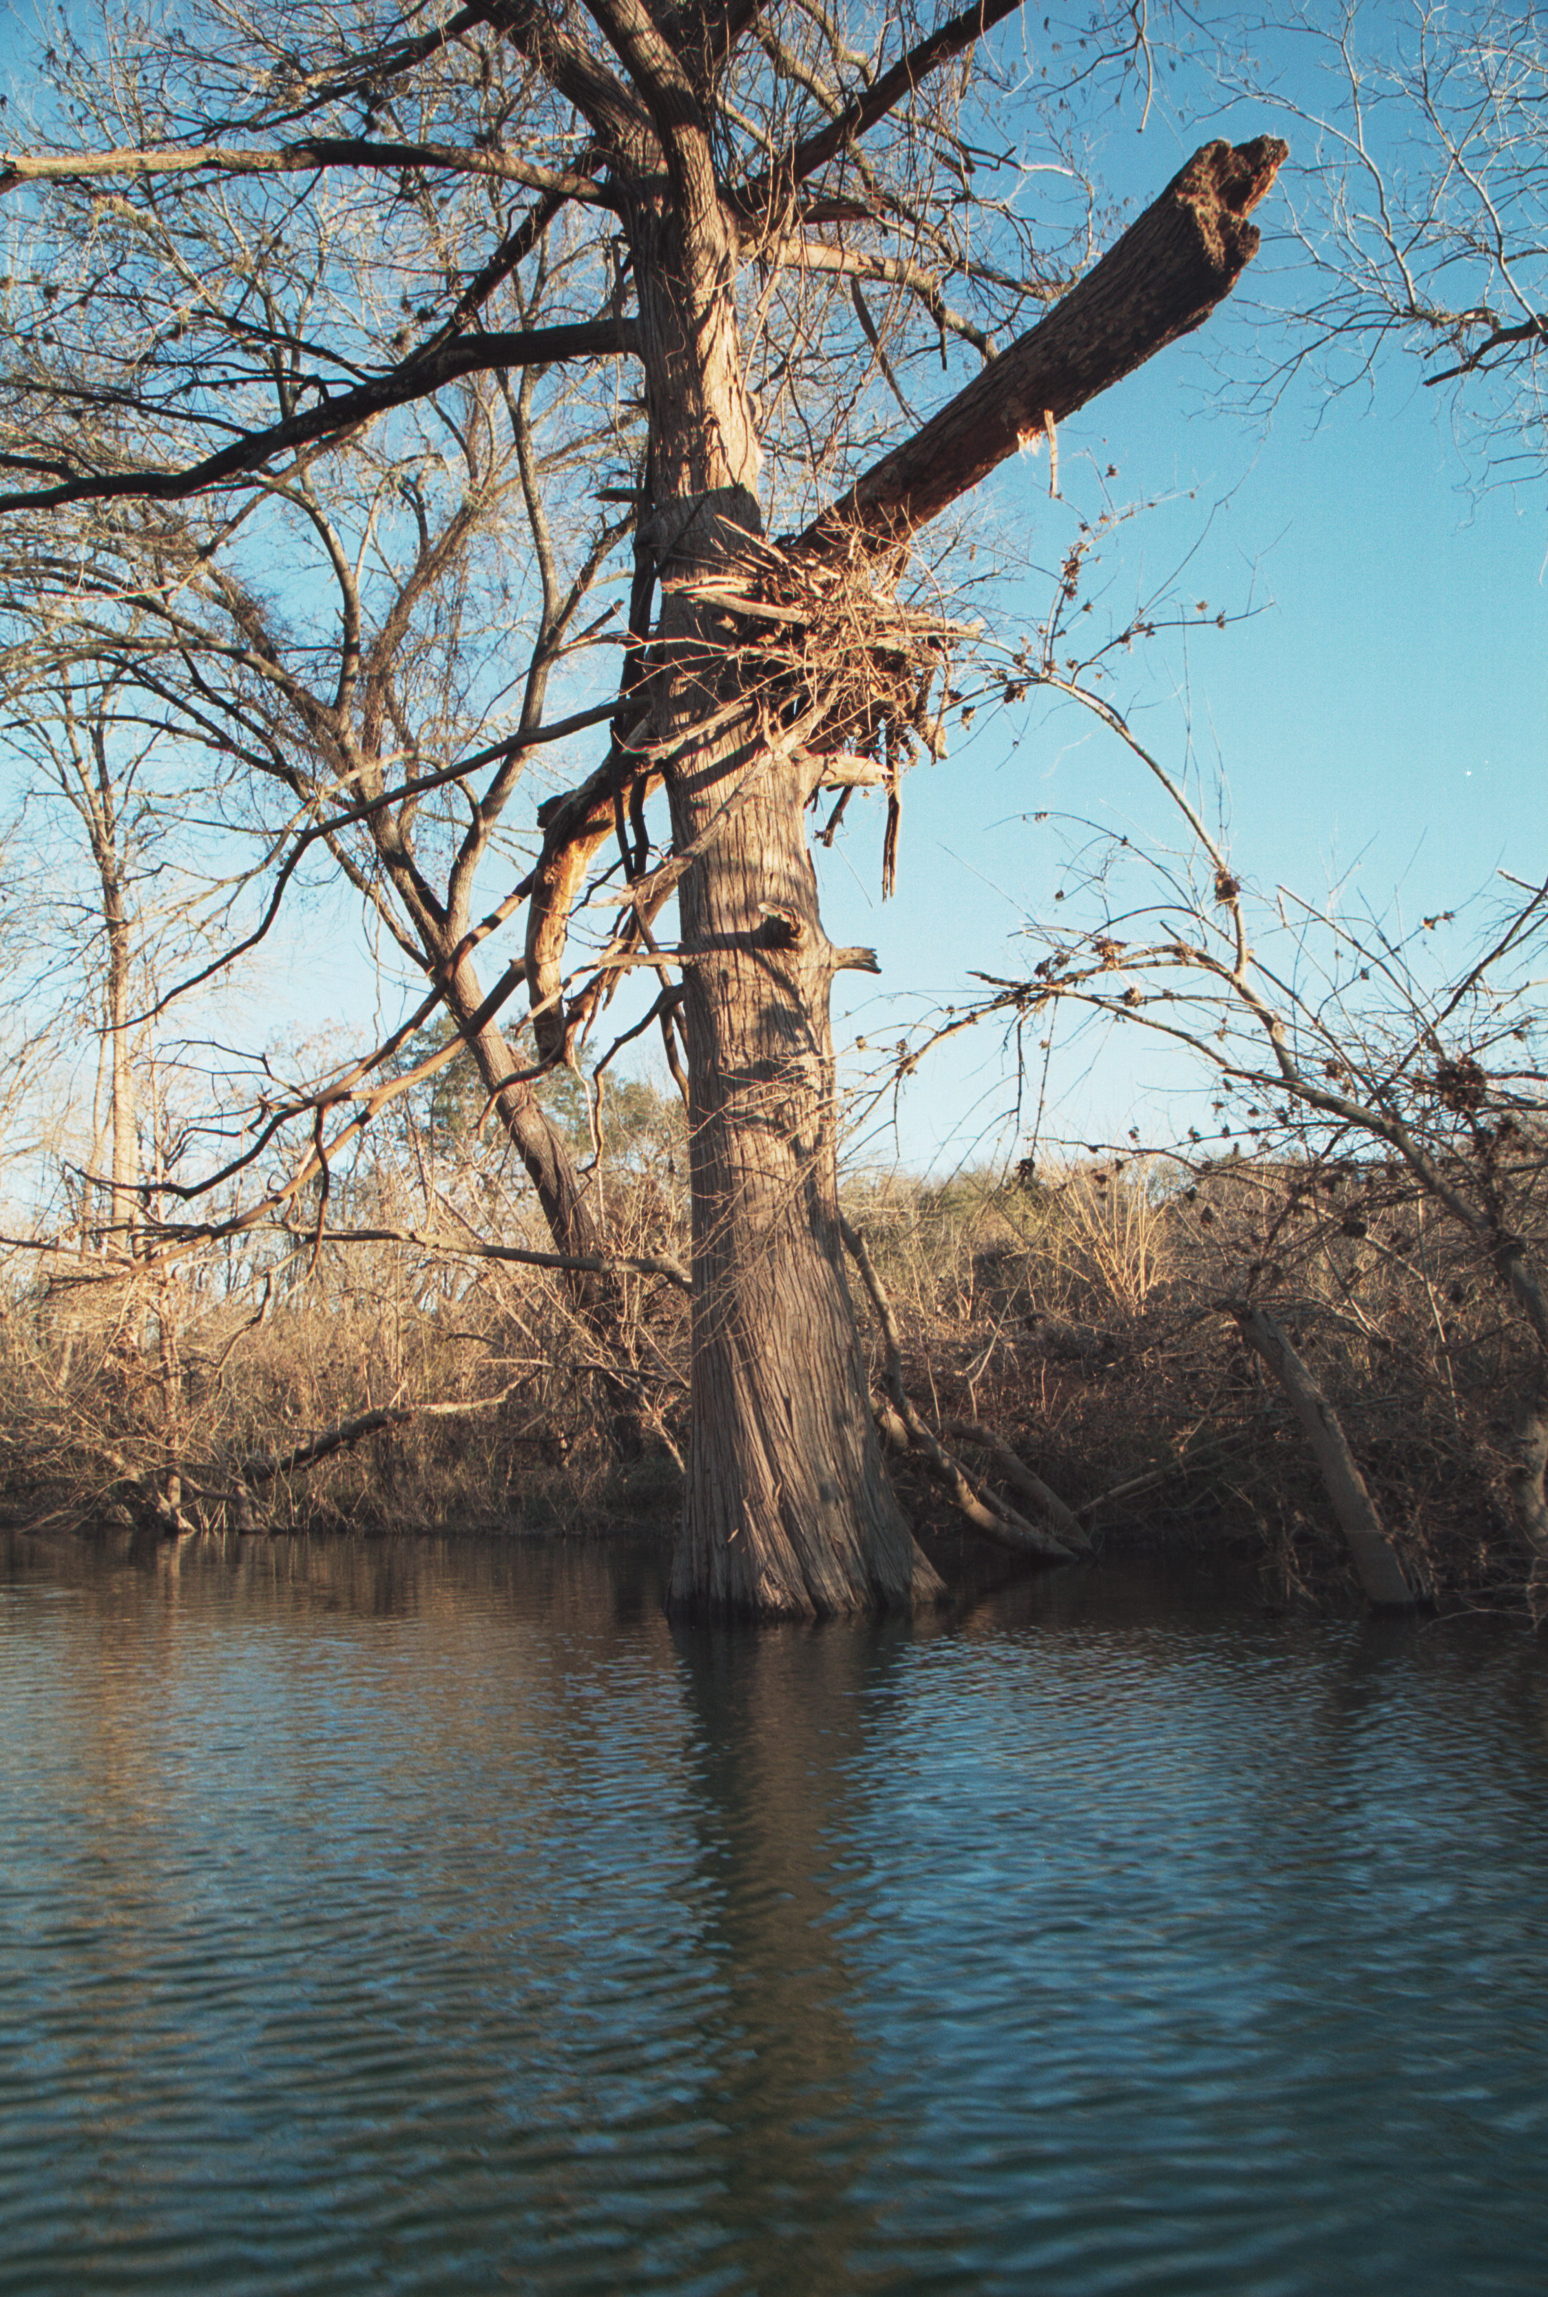
[(689, 1484), (668, 1603), (815, 1617), (939, 1594), (870, 1420), (843, 1268), (831, 951), (806, 852), (806, 788), (760, 733), (694, 740), (735, 691), (705, 611), (675, 590), (758, 531), (735, 260), (719, 211), (682, 234), (634, 218), (652, 517), (664, 581), (657, 733), (678, 852), (721, 815), (680, 894), (689, 1047), (694, 1358)]

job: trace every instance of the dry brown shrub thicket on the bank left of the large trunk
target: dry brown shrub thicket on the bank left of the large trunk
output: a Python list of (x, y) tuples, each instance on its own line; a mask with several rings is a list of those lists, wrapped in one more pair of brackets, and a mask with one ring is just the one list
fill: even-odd
[[(620, 1254), (675, 1243), (673, 1188), (671, 1153), (636, 1142), (606, 1190)], [(303, 1211), (278, 1243), (230, 1238), (156, 1273), (96, 1250), (11, 1254), (11, 1514), (163, 1532), (544, 1530), (675, 1495), (675, 1286), (622, 1275), (604, 1362), (558, 1270), (489, 1256), (551, 1240), (466, 1123), (409, 1128), (400, 1160), (335, 1183), (349, 1245)], [(613, 1456), (604, 1376), (638, 1394), (641, 1461)]]

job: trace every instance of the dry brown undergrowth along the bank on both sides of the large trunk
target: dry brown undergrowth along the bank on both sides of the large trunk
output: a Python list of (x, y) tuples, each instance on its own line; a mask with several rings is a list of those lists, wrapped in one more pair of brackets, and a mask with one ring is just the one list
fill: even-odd
[[(636, 1100), (606, 1185), (620, 1256), (687, 1256), (682, 1128)], [(2, 1498), (44, 1525), (595, 1532), (671, 1523), (687, 1447), (687, 1300), (622, 1270), (606, 1316), (455, 1139), (372, 1167), (333, 1217), (395, 1231), (227, 1240), (149, 1273), (16, 1261), (0, 1321)], [(1187, 1539), (1277, 1592), (1353, 1583), (1305, 1433), (1231, 1302), (1270, 1307), (1334, 1406), (1410, 1583), (1514, 1606), (1509, 1507), (1527, 1339), (1456, 1227), (1380, 1158), (1162, 1158), (857, 1176), (932, 1429), (992, 1431), (1098, 1546)], [(425, 1240), (434, 1238), (434, 1240)], [(880, 1335), (859, 1286), (877, 1385)], [(981, 1484), (988, 1454), (962, 1454)], [(949, 1511), (898, 1465), (921, 1523)], [(1020, 1502), (1017, 1502), (1020, 1505)]]

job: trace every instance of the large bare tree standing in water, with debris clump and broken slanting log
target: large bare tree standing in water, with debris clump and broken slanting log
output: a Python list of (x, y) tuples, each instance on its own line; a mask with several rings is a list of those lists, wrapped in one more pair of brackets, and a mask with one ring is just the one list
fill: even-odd
[[(570, 1250), (579, 1213), (563, 1144), (531, 1089), (570, 1057), (618, 967), (661, 956), (650, 928), (678, 900), (694, 1204), (694, 1443), (671, 1585), (682, 1608), (841, 1612), (937, 1587), (882, 1470), (845, 1282), (829, 990), (866, 956), (822, 930), (804, 809), (843, 774), (896, 786), (930, 735), (953, 632), (910, 597), (914, 537), (1017, 446), (1052, 443), (1059, 423), (1208, 317), (1256, 248), (1247, 216), (1284, 156), (1270, 138), (1206, 145), (1043, 315), (1052, 283), (1027, 227), (974, 181), (1006, 168), (1015, 184), (1015, 149), (985, 145), (985, 90), (969, 71), (1013, 14), (1015, 0), (981, 0), (919, 34), (887, 11), (866, 51), (857, 25), (811, 0), (473, 0), (432, 25), (365, 5), (209, 7), (165, 32), (117, 34), (106, 55), (62, 32), (55, 85), (73, 115), (46, 149), (11, 154), (5, 177), (14, 191), (48, 186), (37, 243), (51, 269), (14, 312), (16, 482), (0, 508), (41, 554), (60, 551), (57, 521), (78, 521), (71, 563), (122, 554), (133, 531), (136, 563), (154, 560), (138, 595), (158, 602), (179, 691), (202, 696), (218, 659), (239, 673), (239, 712), (253, 682), (280, 696), (285, 724), (255, 724), (246, 740), (271, 753), (262, 769), (345, 866), (342, 832), (370, 825), (377, 859), (356, 866), (361, 891), (374, 900), (386, 877), (413, 919), (434, 992), (487, 1089), (508, 1096)], [(896, 306), (889, 338), (866, 285)], [(1027, 328), (1029, 312), (1040, 317)], [(921, 338), (942, 356), (949, 340), (967, 345), (981, 368), (866, 466), (854, 345), (864, 374), (903, 397), (900, 363)], [(636, 402), (616, 381), (622, 358)], [(512, 374), (524, 377), (514, 400)], [(540, 620), (524, 714), (494, 758), (420, 772), (420, 730), (395, 701), (411, 609), (452, 565), (452, 526), (485, 512), (469, 441), (496, 395), (514, 407), (544, 616), (554, 528), (533, 510), (531, 448), (521, 464), (533, 395), (560, 425), (572, 510), (586, 462), (593, 492), (627, 508), (634, 560), (622, 678), (595, 712), (611, 724), (606, 758), (542, 809), (537, 864), (501, 905), (528, 907), (537, 1045), (535, 1064), (503, 1077), (489, 1075), (510, 1059), (492, 1047), (489, 999), (462, 985), (471, 910), (432, 891), (404, 809), (429, 781), (466, 790), (466, 838), (482, 857), (551, 730), (537, 666), (556, 625)], [(609, 400), (588, 455), (583, 411)], [(361, 441), (388, 453), (397, 409), (452, 434), (457, 501), (436, 524), (413, 492), (425, 462), (402, 480), (418, 554), (367, 639), (354, 570), (372, 517), (351, 558), (319, 473)], [(604, 489), (597, 455), (622, 462)], [(765, 489), (804, 517), (779, 544)], [(276, 659), (276, 616), (223, 572), (243, 521), (273, 510), (292, 528), (310, 521), (333, 567), (331, 698)], [(101, 597), (110, 583), (90, 588)], [(558, 595), (583, 588), (572, 577)], [(186, 595), (239, 636), (195, 634)], [(372, 678), (374, 742), (363, 742)], [(305, 774), (303, 744), (317, 760)], [(390, 788), (384, 747), (409, 763)], [(478, 797), (475, 769), (492, 769)], [(643, 804), (657, 786), (671, 852), (652, 868)], [(328, 820), (319, 809), (333, 799)], [(622, 912), (590, 983), (565, 997), (574, 907), (611, 838), (629, 880)], [(466, 852), (464, 841), (452, 884)]]

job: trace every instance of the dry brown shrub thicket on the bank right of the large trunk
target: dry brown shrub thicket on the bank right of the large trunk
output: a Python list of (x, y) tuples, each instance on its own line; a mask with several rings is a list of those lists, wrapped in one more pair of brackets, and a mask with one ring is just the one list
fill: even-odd
[(1520, 1601), (1507, 1477), (1530, 1344), (1394, 1162), (1109, 1158), (1013, 1185), (891, 1181), (854, 1217), (910, 1387), (939, 1424), (994, 1429), (1098, 1539), (1226, 1544), (1284, 1590), (1348, 1578), (1305, 1436), (1226, 1312), (1254, 1291), (1337, 1408), (1410, 1580)]

